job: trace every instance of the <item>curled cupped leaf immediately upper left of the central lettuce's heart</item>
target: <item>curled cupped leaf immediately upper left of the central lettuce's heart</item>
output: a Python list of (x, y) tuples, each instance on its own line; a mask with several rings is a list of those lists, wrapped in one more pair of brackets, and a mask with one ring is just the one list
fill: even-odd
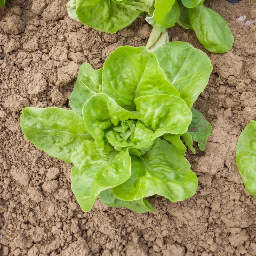
[(94, 94), (86, 101), (83, 107), (83, 118), (86, 129), (100, 149), (104, 148), (103, 130), (110, 128), (112, 124), (117, 126), (119, 121), (139, 119), (135, 113), (120, 107), (105, 93)]

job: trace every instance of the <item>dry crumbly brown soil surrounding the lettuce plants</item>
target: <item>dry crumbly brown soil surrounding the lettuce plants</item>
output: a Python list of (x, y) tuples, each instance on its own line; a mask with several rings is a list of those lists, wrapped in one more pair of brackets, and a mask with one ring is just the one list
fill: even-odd
[[(228, 20), (235, 43), (226, 54), (207, 52), (214, 70), (195, 106), (213, 132), (205, 152), (188, 153), (199, 187), (180, 203), (152, 197), (157, 213), (146, 214), (99, 201), (81, 211), (72, 164), (36, 149), (20, 130), (24, 106), (69, 108), (81, 63), (100, 68), (116, 47), (149, 37), (143, 19), (114, 35), (82, 26), (66, 2), (7, 0), (0, 8), (0, 255), (256, 255), (256, 199), (235, 164), (238, 136), (256, 118), (256, 25), (235, 19), (256, 19), (254, 0), (206, 1)], [(169, 35), (204, 50), (193, 31), (175, 26)]]

